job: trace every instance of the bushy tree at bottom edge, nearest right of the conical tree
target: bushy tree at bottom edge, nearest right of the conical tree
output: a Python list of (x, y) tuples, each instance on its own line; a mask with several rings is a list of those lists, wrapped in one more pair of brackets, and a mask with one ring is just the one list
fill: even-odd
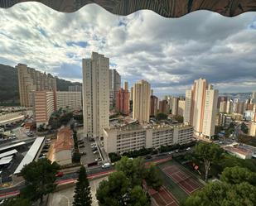
[(129, 180), (123, 172), (117, 171), (109, 175), (109, 180), (99, 183), (96, 198), (99, 206), (125, 205), (128, 198)]

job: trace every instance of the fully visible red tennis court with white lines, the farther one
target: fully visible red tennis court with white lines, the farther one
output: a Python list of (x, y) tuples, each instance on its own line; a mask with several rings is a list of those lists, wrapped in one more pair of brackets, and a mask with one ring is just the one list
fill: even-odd
[(179, 184), (186, 194), (192, 194), (197, 189), (200, 189), (202, 185), (191, 178), (191, 175), (187, 175), (178, 166), (171, 165), (162, 169), (176, 184)]

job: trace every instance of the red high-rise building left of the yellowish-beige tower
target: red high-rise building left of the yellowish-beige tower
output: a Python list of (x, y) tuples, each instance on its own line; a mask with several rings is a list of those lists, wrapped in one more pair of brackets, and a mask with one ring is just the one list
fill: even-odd
[(116, 111), (118, 113), (123, 113), (125, 115), (129, 114), (130, 107), (129, 107), (129, 91), (128, 89), (119, 89), (117, 97), (116, 97), (116, 104), (115, 104)]

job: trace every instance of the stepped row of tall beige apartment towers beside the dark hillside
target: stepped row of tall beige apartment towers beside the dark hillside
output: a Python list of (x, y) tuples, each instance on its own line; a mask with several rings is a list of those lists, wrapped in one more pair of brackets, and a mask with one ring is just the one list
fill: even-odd
[(41, 73), (23, 64), (18, 64), (16, 68), (22, 107), (32, 106), (32, 91), (56, 91), (56, 78), (51, 74)]

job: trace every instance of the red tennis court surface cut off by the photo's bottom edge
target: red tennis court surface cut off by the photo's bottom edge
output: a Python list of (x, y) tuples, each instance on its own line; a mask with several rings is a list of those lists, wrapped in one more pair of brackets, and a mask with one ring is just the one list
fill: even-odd
[(176, 199), (165, 188), (162, 187), (158, 192), (150, 189), (149, 194), (152, 196), (153, 206), (178, 206)]

